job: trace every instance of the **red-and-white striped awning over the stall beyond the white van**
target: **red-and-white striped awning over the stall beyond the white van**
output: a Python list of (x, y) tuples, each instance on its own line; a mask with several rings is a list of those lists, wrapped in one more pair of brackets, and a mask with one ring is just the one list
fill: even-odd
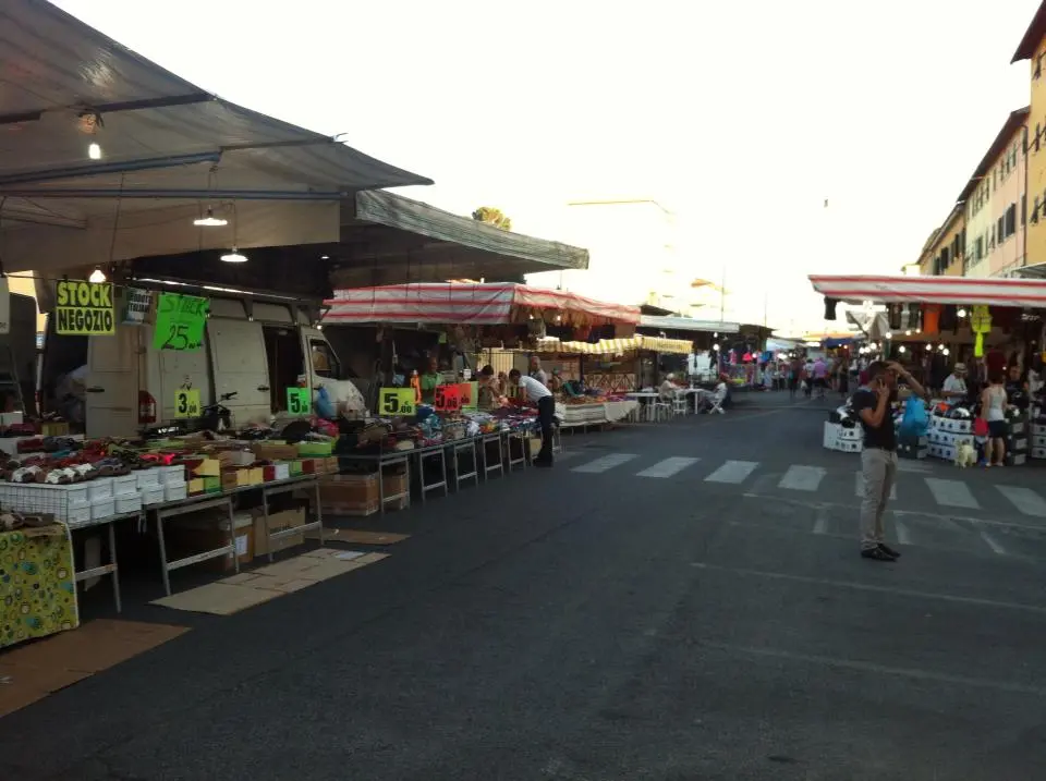
[(414, 283), (337, 290), (324, 322), (426, 322), (495, 326), (513, 321), (513, 307), (554, 309), (588, 322), (637, 324), (640, 309), (558, 290), (511, 282)]

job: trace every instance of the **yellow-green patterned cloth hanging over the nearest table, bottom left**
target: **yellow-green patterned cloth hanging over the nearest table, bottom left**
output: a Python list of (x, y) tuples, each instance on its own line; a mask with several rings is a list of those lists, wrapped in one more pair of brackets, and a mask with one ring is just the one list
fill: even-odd
[(64, 526), (0, 532), (0, 648), (80, 625)]

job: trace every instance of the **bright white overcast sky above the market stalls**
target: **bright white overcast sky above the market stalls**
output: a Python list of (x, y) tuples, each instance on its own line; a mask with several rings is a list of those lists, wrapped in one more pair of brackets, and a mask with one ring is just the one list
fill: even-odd
[(806, 274), (899, 273), (1027, 103), (1038, 0), (56, 4), (450, 211), (557, 239), (571, 200), (655, 199), (684, 271), (816, 327)]

